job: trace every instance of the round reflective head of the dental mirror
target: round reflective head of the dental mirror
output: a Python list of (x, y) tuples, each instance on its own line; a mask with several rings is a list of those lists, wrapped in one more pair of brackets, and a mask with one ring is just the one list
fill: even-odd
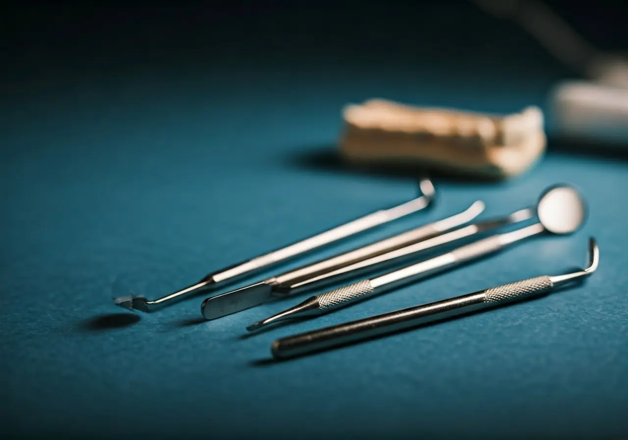
[(536, 207), (544, 228), (553, 234), (570, 234), (582, 226), (587, 206), (578, 191), (568, 186), (549, 189)]

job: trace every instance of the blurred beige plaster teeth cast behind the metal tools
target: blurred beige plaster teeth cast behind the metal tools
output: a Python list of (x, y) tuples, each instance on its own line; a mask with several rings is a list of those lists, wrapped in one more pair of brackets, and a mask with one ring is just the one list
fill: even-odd
[(541, 109), (495, 115), (384, 99), (350, 104), (338, 142), (354, 163), (416, 163), (482, 177), (519, 175), (543, 155)]

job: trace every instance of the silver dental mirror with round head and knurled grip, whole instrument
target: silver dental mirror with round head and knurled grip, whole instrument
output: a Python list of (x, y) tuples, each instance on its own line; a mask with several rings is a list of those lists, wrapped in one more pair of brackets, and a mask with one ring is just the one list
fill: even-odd
[(376, 278), (367, 278), (339, 289), (315, 295), (301, 304), (295, 305), (295, 307), (251, 324), (247, 330), (255, 331), (273, 322), (286, 319), (325, 314), (353, 302), (394, 289), (399, 285), (411, 283), (426, 275), (441, 272), (467, 261), (477, 260), (484, 255), (496, 253), (512, 243), (546, 231), (553, 234), (573, 233), (580, 228), (586, 214), (585, 204), (578, 192), (564, 185), (546, 190), (539, 199), (536, 211), (540, 223), (507, 233), (495, 234), (394, 272)]

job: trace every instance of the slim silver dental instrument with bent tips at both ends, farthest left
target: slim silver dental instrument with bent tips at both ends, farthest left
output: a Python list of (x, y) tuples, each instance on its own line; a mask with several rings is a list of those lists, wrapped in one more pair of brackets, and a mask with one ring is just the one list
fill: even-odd
[(381, 226), (400, 217), (407, 216), (413, 212), (421, 211), (430, 206), (435, 199), (435, 189), (430, 179), (421, 179), (419, 188), (421, 190), (420, 197), (416, 197), (411, 201), (401, 205), (382, 209), (372, 212), (366, 216), (342, 224), (336, 228), (329, 229), (323, 233), (311, 236), (292, 245), (288, 245), (279, 250), (272, 251), (265, 255), (257, 256), (251, 260), (242, 261), (236, 265), (224, 268), (217, 272), (209, 273), (198, 283), (190, 285), (185, 289), (178, 290), (170, 295), (166, 295), (160, 299), (147, 300), (142, 296), (124, 296), (114, 298), (114, 303), (125, 309), (138, 310), (143, 312), (152, 312), (161, 307), (183, 299), (188, 294), (195, 294), (204, 290), (217, 287), (217, 285), (227, 282), (234, 282), (244, 275), (251, 275), (264, 268), (271, 267), (280, 261), (288, 260), (297, 255), (301, 255), (308, 251), (329, 245), (340, 239), (347, 238), (357, 233), (366, 231), (367, 229)]

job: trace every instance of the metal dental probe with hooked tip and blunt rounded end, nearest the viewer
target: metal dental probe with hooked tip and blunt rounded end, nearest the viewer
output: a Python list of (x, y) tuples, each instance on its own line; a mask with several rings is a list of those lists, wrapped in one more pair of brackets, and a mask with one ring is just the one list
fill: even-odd
[(490, 309), (499, 305), (531, 299), (549, 294), (563, 284), (581, 280), (591, 275), (598, 267), (600, 251), (595, 239), (589, 239), (588, 267), (578, 272), (556, 275), (553, 277), (528, 278), (508, 283), (473, 294), (462, 295), (429, 304), (408, 307), (394, 312), (345, 322), (336, 326), (296, 334), (274, 341), (271, 352), (276, 359), (293, 358), (307, 355), (340, 345), (356, 343), (365, 339), (384, 336), (404, 329), (420, 326), (429, 322), (440, 321), (453, 316)]

